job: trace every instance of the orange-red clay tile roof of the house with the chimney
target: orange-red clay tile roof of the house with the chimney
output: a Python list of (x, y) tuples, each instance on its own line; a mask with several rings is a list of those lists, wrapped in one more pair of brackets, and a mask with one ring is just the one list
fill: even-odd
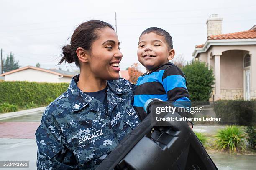
[[(208, 40), (226, 40), (226, 39), (251, 39), (256, 38), (256, 29), (235, 32), (230, 34), (219, 34), (219, 35), (211, 35), (208, 37)], [(196, 48), (202, 48), (204, 44), (196, 45)]]

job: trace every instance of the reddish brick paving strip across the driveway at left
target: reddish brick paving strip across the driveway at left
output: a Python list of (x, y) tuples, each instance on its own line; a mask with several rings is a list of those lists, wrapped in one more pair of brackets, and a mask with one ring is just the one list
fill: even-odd
[(0, 138), (35, 139), (40, 122), (0, 122)]

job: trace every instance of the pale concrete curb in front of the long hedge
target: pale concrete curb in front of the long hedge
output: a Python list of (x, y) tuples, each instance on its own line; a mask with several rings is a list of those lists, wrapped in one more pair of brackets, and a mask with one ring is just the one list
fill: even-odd
[(35, 109), (20, 110), (18, 112), (3, 113), (3, 114), (0, 114), (0, 120), (8, 119), (11, 117), (18, 117), (18, 116), (22, 116), (22, 115), (30, 115), (33, 113), (44, 112), (45, 108), (46, 107), (38, 107)]

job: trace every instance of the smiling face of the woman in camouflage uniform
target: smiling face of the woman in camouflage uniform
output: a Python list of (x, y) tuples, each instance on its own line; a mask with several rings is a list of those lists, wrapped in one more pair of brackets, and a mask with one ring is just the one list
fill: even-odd
[(120, 52), (118, 36), (109, 27), (97, 31), (99, 38), (92, 43), (88, 64), (95, 78), (115, 80), (119, 78)]

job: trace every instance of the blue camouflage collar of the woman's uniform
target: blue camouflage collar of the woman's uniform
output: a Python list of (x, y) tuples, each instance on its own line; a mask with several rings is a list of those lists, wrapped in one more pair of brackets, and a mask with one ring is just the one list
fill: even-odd
[[(71, 83), (67, 89), (67, 98), (71, 104), (72, 111), (76, 112), (88, 105), (89, 110), (97, 112), (105, 112), (104, 105), (95, 98), (86, 95), (77, 87), (77, 82), (80, 75), (72, 77)], [(122, 100), (118, 95), (127, 92), (126, 89), (118, 85), (119, 80), (108, 80), (107, 82), (107, 98), (108, 112), (111, 112), (114, 107)]]

